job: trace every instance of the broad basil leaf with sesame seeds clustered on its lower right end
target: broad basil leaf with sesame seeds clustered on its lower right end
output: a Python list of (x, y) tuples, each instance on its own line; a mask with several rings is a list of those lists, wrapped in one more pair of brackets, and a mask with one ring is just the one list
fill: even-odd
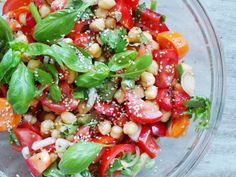
[(52, 45), (52, 48), (68, 68), (82, 73), (92, 69), (92, 59), (90, 57), (67, 43), (60, 42), (59, 45)]

